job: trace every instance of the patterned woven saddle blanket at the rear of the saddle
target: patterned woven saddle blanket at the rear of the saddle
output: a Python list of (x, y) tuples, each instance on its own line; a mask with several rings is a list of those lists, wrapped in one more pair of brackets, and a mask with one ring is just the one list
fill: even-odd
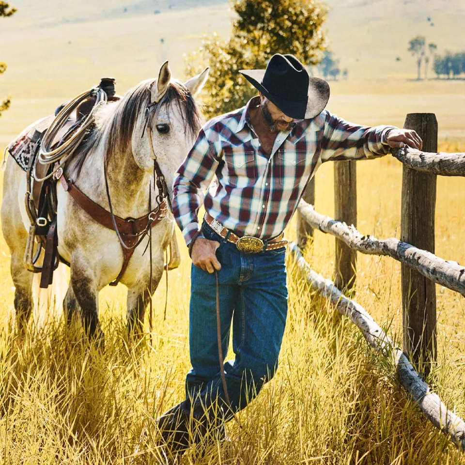
[(54, 118), (54, 115), (50, 115), (32, 123), (8, 145), (8, 153), (15, 159), (22, 170), (28, 170), (31, 158), (39, 150), (41, 136), (52, 124)]

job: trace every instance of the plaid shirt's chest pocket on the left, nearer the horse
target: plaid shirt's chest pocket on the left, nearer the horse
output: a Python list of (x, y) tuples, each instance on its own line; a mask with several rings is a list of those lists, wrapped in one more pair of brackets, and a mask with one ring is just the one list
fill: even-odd
[(257, 167), (255, 152), (241, 146), (224, 147), (223, 181), (234, 187), (255, 184)]

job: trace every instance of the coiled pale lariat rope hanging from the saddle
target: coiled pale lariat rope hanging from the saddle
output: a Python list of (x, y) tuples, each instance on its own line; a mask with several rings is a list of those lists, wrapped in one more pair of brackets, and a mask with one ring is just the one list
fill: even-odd
[[(69, 137), (62, 141), (62, 143), (58, 144), (57, 147), (53, 146), (53, 141), (57, 136), (58, 132), (62, 129), (68, 118), (70, 117), (71, 113), (78, 108), (78, 106), (90, 97), (95, 97), (95, 104), (92, 107), (91, 112), (86, 116), (86, 118), (79, 124), (78, 129)], [(47, 174), (44, 178), (38, 178), (34, 166), (34, 170), (32, 173), (33, 178), (38, 181), (42, 182), (46, 179), (52, 177), (60, 168), (64, 162), (74, 153), (74, 151), (78, 148), (78, 145), (82, 142), (85, 136), (88, 133), (89, 128), (95, 121), (95, 109), (100, 102), (107, 101), (107, 94), (103, 89), (100, 87), (93, 87), (86, 92), (81, 93), (73, 100), (70, 100), (58, 113), (57, 117), (53, 120), (50, 127), (44, 134), (40, 142), (40, 149), (39, 149), (39, 163), (41, 165), (51, 165), (60, 161), (60, 164), (55, 167), (50, 173)]]

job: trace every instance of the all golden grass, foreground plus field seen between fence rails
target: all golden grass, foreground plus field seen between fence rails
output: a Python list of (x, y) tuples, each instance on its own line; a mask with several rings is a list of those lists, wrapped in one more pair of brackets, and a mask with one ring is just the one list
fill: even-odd
[[(401, 170), (389, 158), (357, 164), (362, 233), (399, 236)], [(317, 210), (332, 214), (331, 164), (318, 172), (316, 186)], [(465, 263), (463, 187), (462, 179), (438, 180), (436, 252), (459, 263)], [(294, 223), (287, 236), (295, 236)], [(101, 293), (105, 351), (83, 338), (79, 324), (67, 329), (62, 319), (42, 329), (31, 325), (18, 339), (3, 242), (0, 252), (0, 464), (166, 463), (155, 418), (183, 398), (190, 366), (186, 249), (182, 266), (170, 272), (167, 319), (162, 281), (153, 333), (144, 341), (126, 339), (124, 288)], [(333, 257), (334, 239), (315, 233), (307, 260), (330, 277)], [(202, 458), (191, 449), (181, 463), (465, 464), (356, 328), (311, 292), (292, 264), (288, 271), (289, 314), (277, 375), (240, 413), (242, 428), (228, 424), (228, 441)], [(400, 343), (399, 264), (359, 254), (357, 271), (357, 301)], [(438, 363), (427, 381), (464, 417), (464, 300), (437, 286), (437, 301)]]

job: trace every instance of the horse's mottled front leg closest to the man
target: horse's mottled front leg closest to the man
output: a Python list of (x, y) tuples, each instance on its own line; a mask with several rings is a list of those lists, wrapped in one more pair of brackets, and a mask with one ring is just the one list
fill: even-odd
[[(163, 275), (163, 255), (161, 256), (161, 265), (154, 266), (152, 276), (152, 293), (158, 287), (158, 283)], [(127, 332), (129, 335), (141, 335), (143, 331), (145, 309), (150, 303), (150, 278), (143, 281), (144, 285), (128, 287), (127, 290)]]

